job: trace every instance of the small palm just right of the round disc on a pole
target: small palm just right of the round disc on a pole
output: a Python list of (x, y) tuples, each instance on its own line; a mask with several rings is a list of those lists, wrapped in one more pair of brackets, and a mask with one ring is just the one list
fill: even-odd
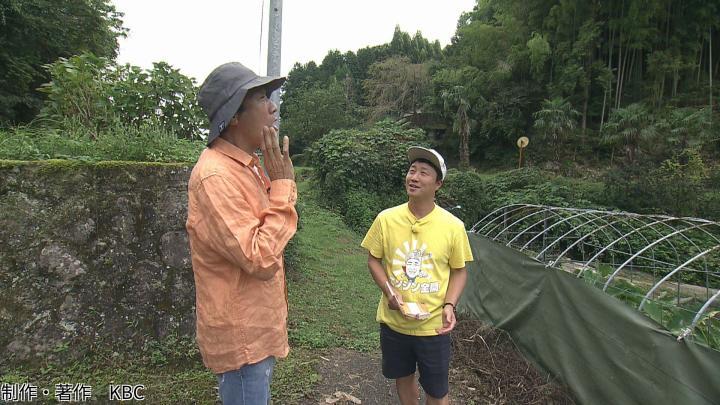
[(533, 114), (534, 127), (545, 140), (550, 141), (555, 151), (555, 160), (560, 163), (560, 149), (568, 135), (577, 127), (577, 112), (570, 102), (562, 97), (545, 100), (539, 111)]

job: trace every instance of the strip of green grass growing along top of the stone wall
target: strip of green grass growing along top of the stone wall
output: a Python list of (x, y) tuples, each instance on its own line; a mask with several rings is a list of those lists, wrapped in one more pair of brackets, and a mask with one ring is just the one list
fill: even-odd
[(202, 141), (177, 139), (155, 125), (118, 123), (98, 133), (79, 126), (0, 130), (0, 159), (8, 160), (195, 162), (204, 147)]

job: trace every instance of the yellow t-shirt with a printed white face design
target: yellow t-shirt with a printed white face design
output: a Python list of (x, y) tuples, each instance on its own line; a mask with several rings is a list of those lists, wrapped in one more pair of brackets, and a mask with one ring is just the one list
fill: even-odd
[(377, 321), (406, 335), (437, 335), (450, 271), (473, 260), (462, 221), (437, 205), (418, 220), (405, 203), (378, 214), (360, 245), (382, 259), (390, 284), (405, 302), (424, 303), (431, 313), (423, 320), (405, 318), (388, 307), (383, 294)]

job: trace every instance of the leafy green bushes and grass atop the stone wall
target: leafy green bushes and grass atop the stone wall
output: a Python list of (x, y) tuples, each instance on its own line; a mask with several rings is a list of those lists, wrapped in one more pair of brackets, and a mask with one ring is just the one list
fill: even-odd
[(85, 53), (46, 65), (47, 99), (28, 127), (0, 129), (0, 159), (194, 162), (207, 127), (192, 79)]

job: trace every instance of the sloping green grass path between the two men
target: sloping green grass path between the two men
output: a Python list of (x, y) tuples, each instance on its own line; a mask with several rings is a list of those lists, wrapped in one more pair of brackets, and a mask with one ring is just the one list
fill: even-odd
[(319, 196), (313, 195), (310, 183), (299, 183), (299, 191), (305, 201), (296, 236), (302, 263), (290, 275), (291, 345), (374, 350), (380, 293), (367, 271), (362, 237), (314, 201)]

